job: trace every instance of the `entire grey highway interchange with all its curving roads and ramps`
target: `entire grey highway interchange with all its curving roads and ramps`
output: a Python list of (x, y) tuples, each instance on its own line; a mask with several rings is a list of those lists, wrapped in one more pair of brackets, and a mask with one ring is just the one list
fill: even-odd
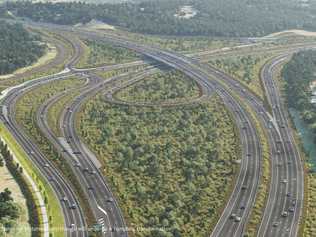
[[(179, 53), (162, 50), (157, 47), (139, 45), (128, 39), (99, 32), (56, 25), (42, 26), (35, 24), (35, 26), (45, 27), (46, 29), (48, 27), (51, 31), (56, 32), (72, 33), (80, 38), (104, 40), (105, 42), (135, 50), (160, 64), (178, 69), (195, 80), (202, 90), (201, 96), (203, 99), (214, 92), (222, 98), (225, 106), (232, 112), (239, 129), (242, 157), (235, 188), (211, 236), (243, 236), (245, 233), (262, 175), (263, 156), (261, 141), (256, 124), (253, 122), (253, 116), (256, 116), (260, 121), (260, 126), (267, 131), (272, 171), (269, 196), (258, 230), (258, 236), (297, 236), (303, 208), (303, 164), (295, 145), (279, 89), (273, 80), (274, 68), (279, 63), (282, 63), (285, 57), (289, 57), (289, 54), (282, 54), (282, 56), (276, 57), (271, 63), (267, 63), (262, 70), (261, 78), (269, 102), (269, 106), (267, 106), (241, 83), (218, 69), (199, 62), (197, 60), (198, 57), (190, 58)], [(103, 227), (104, 236), (127, 236), (128, 232), (125, 231), (127, 230), (127, 225), (116, 202), (115, 194), (110, 191), (106, 177), (100, 173), (98, 160), (80, 141), (76, 133), (75, 114), (86, 100), (101, 91), (105, 91), (105, 98), (108, 98), (109, 101), (117, 102), (113, 101), (112, 97), (116, 90), (145, 78), (148, 74), (153, 73), (153, 69), (152, 67), (145, 67), (139, 71), (123, 73), (104, 80), (94, 74), (93, 71), (133, 68), (134, 66), (143, 66), (144, 62), (137, 61), (100, 68), (76, 69), (75, 64), (82, 55), (82, 48), (76, 40), (69, 40), (69, 43), (71, 43), (74, 53), (72, 58), (66, 63), (63, 73), (35, 79), (3, 93), (1, 120), (5, 122), (7, 128), (29, 154), (34, 165), (50, 180), (50, 184), (55, 190), (58, 199), (61, 200), (67, 227), (72, 225), (76, 227), (74, 229), (68, 228), (67, 235), (87, 236), (84, 212), (80, 208), (80, 203), (73, 191), (75, 187), (67, 183), (63, 175), (54, 168), (54, 165), (45, 158), (45, 155), (27, 138), (23, 129), (15, 121), (16, 101), (27, 91), (45, 83), (69, 78), (72, 75), (86, 78), (86, 83), (81, 88), (74, 88), (74, 90), (79, 90), (80, 93), (78, 93), (71, 104), (67, 105), (62, 113), (60, 119), (62, 138), (56, 137), (49, 128), (47, 112), (48, 108), (67, 92), (57, 94), (45, 101), (37, 111), (37, 123), (46, 138), (72, 167), (73, 173), (82, 184), (85, 195), (89, 200), (89, 207), (93, 212), (95, 221)], [(302, 46), (297, 46), (297, 48), (300, 47)], [(60, 50), (62, 51), (62, 49)], [(116, 83), (117, 81), (122, 81), (122, 83)], [(197, 102), (199, 101), (194, 101), (194, 103)], [(192, 103), (192, 101), (189, 103)], [(146, 106), (145, 104), (137, 105)], [(76, 208), (71, 208), (69, 204), (75, 204)], [(285, 213), (286, 217), (282, 217), (282, 215), (285, 216)], [(232, 214), (234, 214), (234, 218), (232, 218)]]

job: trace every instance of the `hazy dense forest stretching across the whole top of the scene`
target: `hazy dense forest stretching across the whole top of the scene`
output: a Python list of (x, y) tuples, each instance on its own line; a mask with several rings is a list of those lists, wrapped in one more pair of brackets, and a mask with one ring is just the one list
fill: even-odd
[[(189, 19), (175, 17), (184, 5), (192, 6), (197, 14)], [(158, 0), (121, 4), (26, 1), (2, 7), (35, 21), (72, 25), (97, 19), (147, 34), (251, 37), (292, 28), (316, 28), (313, 1)]]

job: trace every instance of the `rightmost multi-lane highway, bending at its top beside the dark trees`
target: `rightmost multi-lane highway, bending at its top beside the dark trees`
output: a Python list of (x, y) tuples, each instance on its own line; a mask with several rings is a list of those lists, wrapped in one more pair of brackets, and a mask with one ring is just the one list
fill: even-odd
[[(273, 165), (283, 161), (284, 169), (273, 168), (269, 199), (265, 208), (262, 225), (260, 226), (259, 236), (296, 236), (298, 224), (302, 216), (304, 202), (304, 170), (298, 148), (295, 144), (288, 113), (284, 108), (277, 83), (273, 79), (273, 72), (276, 67), (289, 57), (281, 55), (267, 63), (262, 69), (261, 78), (264, 83), (266, 94), (272, 108), (273, 117), (278, 123), (282, 136), (281, 154), (273, 159)], [(283, 158), (285, 157), (285, 159)], [(279, 161), (277, 161), (279, 160)], [(283, 190), (275, 191), (279, 187), (278, 183), (283, 184)], [(286, 212), (287, 217), (283, 217), (282, 225), (279, 218)], [(269, 228), (274, 225), (274, 228)], [(284, 224), (283, 224), (284, 223)]]

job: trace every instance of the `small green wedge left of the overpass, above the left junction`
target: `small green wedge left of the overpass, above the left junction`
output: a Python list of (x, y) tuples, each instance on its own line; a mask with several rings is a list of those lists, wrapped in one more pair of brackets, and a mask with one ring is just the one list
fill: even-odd
[(131, 50), (115, 47), (101, 41), (87, 40), (86, 54), (79, 62), (79, 67), (92, 67), (105, 64), (118, 64), (135, 61), (138, 55)]

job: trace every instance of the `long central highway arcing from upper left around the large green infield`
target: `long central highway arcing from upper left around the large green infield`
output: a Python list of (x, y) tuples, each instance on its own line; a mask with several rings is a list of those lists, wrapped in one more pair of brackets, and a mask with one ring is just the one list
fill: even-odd
[[(62, 27), (62, 29), (64, 29), (64, 27)], [(178, 54), (174, 55), (171, 52), (164, 52), (160, 49), (144, 47), (143, 45), (140, 46), (135, 43), (126, 42), (125, 39), (121, 40), (113, 38), (112, 36), (108, 37), (91, 32), (84, 32), (83, 34), (84, 37), (99, 40), (101, 39), (119, 45), (121, 47), (133, 49), (141, 54), (146, 55), (147, 57), (159, 61), (160, 63), (167, 64), (170, 67), (184, 72), (188, 76), (195, 79), (199, 84), (204, 84), (204, 86), (206, 87), (222, 87), (220, 83), (215, 82), (214, 80), (212, 80), (213, 78), (209, 77), (208, 74), (198, 69), (196, 65), (193, 65), (192, 60), (189, 58), (183, 58)], [(82, 32), (80, 32), (80, 35), (82, 35)], [(240, 118), (240, 121), (247, 121), (243, 126), (239, 124), (239, 129), (241, 131), (240, 133), (247, 132), (247, 134), (241, 135), (241, 139), (249, 139), (249, 142), (243, 142), (243, 144), (245, 144), (245, 147), (243, 147), (243, 159), (241, 166), (244, 168), (241, 168), (240, 175), (237, 179), (237, 184), (245, 183), (248, 185), (248, 187), (242, 190), (242, 187), (240, 185), (236, 185), (236, 188), (234, 189), (227, 208), (225, 208), (226, 212), (224, 212), (224, 214), (222, 215), (222, 217), (224, 218), (221, 218), (225, 219), (225, 221), (221, 221), (221, 223), (224, 223), (224, 225), (223, 227), (220, 227), (220, 230), (223, 231), (225, 235), (231, 236), (231, 233), (243, 233), (245, 223), (247, 223), (250, 216), (250, 212), (255, 201), (256, 192), (260, 181), (262, 154), (259, 146), (259, 138), (256, 133), (254, 134), (255, 129), (249, 114), (246, 113), (242, 106), (239, 105), (239, 102), (236, 101), (235, 98), (233, 98), (230, 93), (225, 90), (225, 87), (221, 91), (221, 96), (224, 101), (235, 103), (232, 112), (238, 113), (235, 116), (243, 115), (243, 117)], [(227, 106), (229, 105), (227, 104)], [(236, 121), (238, 121), (238, 119), (236, 119)], [(243, 129), (243, 127), (245, 128)], [(252, 135), (250, 135), (250, 133)], [(251, 159), (249, 159), (249, 156), (251, 157)], [(249, 160), (249, 162), (247, 160)], [(244, 206), (244, 208), (241, 209), (242, 206)], [(242, 214), (241, 221), (237, 222), (230, 218), (233, 212), (236, 212), (236, 214)], [(218, 231), (220, 235), (223, 234), (221, 231)]]

